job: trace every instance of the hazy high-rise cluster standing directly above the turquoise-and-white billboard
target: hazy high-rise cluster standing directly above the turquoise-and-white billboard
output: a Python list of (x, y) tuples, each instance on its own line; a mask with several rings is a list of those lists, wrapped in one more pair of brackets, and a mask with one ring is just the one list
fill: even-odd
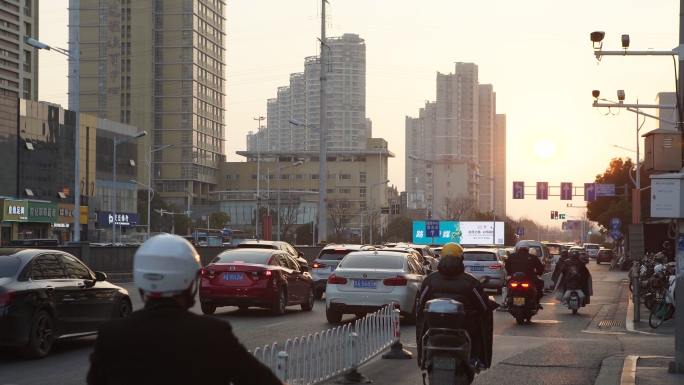
[(505, 151), (502, 158), (497, 155), (505, 148), (505, 116), (501, 137), (494, 87), (479, 84), (474, 63), (456, 63), (454, 73), (437, 73), (436, 86), (437, 100), (426, 102), (418, 117), (406, 117), (406, 153), (423, 159), (406, 161), (408, 208), (425, 209), (428, 217), (434, 199), (432, 217), (446, 218), (448, 200), (467, 199), (484, 212), (496, 201), (497, 213), (503, 214), (498, 197), (505, 190), (497, 188), (494, 197), (493, 182), (476, 176), (495, 178), (497, 187), (505, 182)]

